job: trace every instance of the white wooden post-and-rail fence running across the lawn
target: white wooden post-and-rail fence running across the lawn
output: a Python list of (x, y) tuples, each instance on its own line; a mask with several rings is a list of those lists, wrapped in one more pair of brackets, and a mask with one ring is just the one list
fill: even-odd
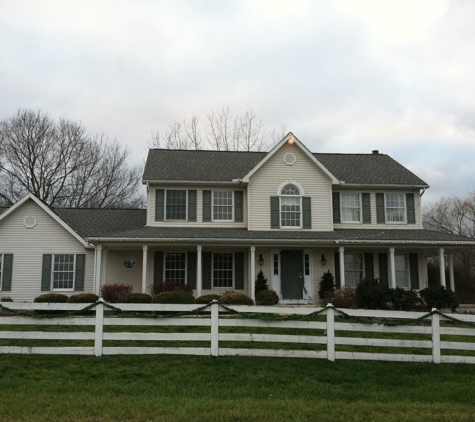
[[(475, 315), (338, 310), (331, 305), (325, 308), (223, 307), (217, 302), (200, 308), (199, 312), (197, 305), (118, 306), (124, 314), (105, 312), (113, 307), (99, 301), (87, 315), (58, 316), (51, 315), (52, 311), (74, 313), (85, 306), (8, 303), (2, 308), (11, 312), (3, 312), (0, 317), (0, 353), (183, 354), (475, 363)], [(27, 312), (32, 315), (25, 316)], [(178, 316), (163, 315), (170, 312)], [(272, 314), (281, 319), (269, 319)], [(282, 315), (294, 319), (282, 319)], [(307, 320), (302, 320), (304, 318)], [(383, 321), (391, 321), (391, 325)], [(51, 345), (51, 342), (60, 344)]]

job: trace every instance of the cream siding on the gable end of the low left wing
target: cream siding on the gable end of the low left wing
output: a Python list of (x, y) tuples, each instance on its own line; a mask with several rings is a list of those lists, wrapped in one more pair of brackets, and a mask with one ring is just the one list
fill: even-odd
[[(27, 229), (25, 217), (35, 217), (36, 226)], [(84, 246), (32, 200), (26, 201), (0, 222), (1, 252), (13, 254), (12, 290), (15, 301), (33, 301), (41, 291), (43, 254), (85, 254), (84, 292), (93, 292), (94, 252)], [(82, 292), (59, 291), (72, 295)]]

